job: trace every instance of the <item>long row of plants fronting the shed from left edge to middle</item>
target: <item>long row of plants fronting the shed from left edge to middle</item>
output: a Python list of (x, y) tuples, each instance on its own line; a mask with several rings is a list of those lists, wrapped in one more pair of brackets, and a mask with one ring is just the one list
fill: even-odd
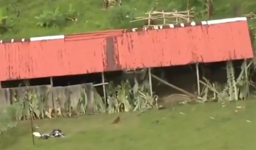
[[(65, 93), (65, 96), (60, 94), (55, 98), (49, 96), (51, 88), (43, 92), (38, 91), (33, 86), (19, 87), (22, 92), (12, 89), (13, 94), (11, 96), (13, 101), (10, 107), (9, 105), (8, 107), (6, 106), (8, 113), (5, 117), (10, 117), (10, 121), (74, 117), (87, 114), (88, 106), (93, 106), (95, 113), (129, 112), (157, 107), (157, 96), (150, 96), (147, 80), (139, 84), (135, 79), (133, 87), (130, 86), (128, 80), (122, 81), (115, 86), (111, 81), (106, 88), (106, 103), (104, 103), (96, 88), (93, 88), (92, 91), (86, 91), (85, 88), (81, 88), (81, 91), (74, 92), (70, 92), (69, 87), (61, 88), (70, 94)], [(88, 92), (93, 93), (92, 99), (88, 97)], [(51, 108), (52, 106), (49, 106), (49, 103), (53, 103), (53, 101), (56, 102), (56, 106)], [(0, 111), (0, 117), (6, 109)], [(12, 114), (9, 112), (12, 112)], [(8, 126), (8, 124), (4, 126)]]

